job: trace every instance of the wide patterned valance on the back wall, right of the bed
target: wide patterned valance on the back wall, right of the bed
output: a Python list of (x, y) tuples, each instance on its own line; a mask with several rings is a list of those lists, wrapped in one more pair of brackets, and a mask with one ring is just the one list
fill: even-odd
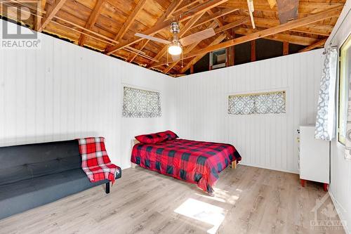
[(229, 96), (228, 114), (279, 114), (285, 113), (285, 91), (251, 93)]

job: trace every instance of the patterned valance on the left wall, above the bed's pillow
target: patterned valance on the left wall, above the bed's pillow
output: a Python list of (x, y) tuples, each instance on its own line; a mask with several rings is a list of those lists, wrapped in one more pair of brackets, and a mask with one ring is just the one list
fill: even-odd
[(122, 115), (130, 118), (161, 117), (160, 93), (124, 87)]

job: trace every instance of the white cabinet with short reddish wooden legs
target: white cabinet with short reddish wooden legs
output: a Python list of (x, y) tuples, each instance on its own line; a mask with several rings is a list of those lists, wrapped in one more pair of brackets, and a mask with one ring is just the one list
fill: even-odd
[(299, 168), (301, 185), (306, 181), (329, 184), (330, 142), (314, 138), (314, 126), (300, 126)]

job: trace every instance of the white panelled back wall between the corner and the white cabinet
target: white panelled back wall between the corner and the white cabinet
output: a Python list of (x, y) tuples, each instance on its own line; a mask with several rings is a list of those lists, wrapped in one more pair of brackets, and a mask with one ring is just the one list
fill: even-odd
[[(232, 143), (242, 164), (298, 172), (298, 126), (315, 124), (322, 50), (192, 74), (176, 83), (182, 138)], [(227, 96), (286, 90), (286, 114), (228, 115)]]

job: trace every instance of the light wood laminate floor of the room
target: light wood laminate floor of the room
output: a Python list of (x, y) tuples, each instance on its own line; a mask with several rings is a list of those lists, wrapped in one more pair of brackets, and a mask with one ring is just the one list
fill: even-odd
[[(220, 174), (215, 190), (209, 197), (194, 184), (126, 169), (109, 195), (98, 186), (16, 214), (0, 221), (0, 233), (344, 233), (311, 229), (326, 193), (302, 188), (296, 174), (239, 165)], [(327, 197), (318, 220), (338, 219), (330, 204)]]

